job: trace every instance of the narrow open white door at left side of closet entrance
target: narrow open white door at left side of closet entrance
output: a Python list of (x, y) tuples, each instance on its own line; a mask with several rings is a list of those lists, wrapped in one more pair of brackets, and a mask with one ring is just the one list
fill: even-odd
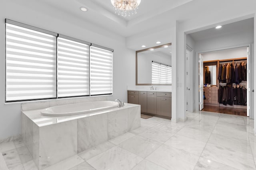
[(204, 62), (199, 54), (199, 110), (204, 108)]

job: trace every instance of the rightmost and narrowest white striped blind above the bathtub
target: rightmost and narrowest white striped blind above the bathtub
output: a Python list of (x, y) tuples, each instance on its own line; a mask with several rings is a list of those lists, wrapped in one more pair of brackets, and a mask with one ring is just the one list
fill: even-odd
[(90, 47), (90, 94), (112, 94), (113, 52), (98, 47)]

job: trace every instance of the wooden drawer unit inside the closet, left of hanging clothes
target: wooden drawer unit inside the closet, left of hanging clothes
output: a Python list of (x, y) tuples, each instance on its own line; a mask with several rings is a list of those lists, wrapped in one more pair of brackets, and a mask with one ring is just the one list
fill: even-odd
[(204, 104), (218, 105), (218, 87), (204, 87)]

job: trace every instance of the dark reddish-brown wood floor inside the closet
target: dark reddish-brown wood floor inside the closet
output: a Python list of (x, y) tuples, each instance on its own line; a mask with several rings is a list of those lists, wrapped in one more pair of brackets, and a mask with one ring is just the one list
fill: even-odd
[(238, 109), (238, 108), (231, 108), (231, 107), (216, 107), (216, 106), (204, 105), (204, 109), (202, 109), (202, 111), (211, 111), (216, 113), (226, 113), (230, 115), (247, 116), (247, 109)]

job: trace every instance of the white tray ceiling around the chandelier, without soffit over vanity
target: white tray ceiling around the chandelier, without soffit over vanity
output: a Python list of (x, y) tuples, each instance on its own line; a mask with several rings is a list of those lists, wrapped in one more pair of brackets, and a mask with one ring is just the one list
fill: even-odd
[[(27, 0), (29, 1), (29, 0)], [(76, 18), (90, 21), (95, 25), (113, 31), (123, 37), (129, 37), (155, 27), (168, 27), (170, 21), (166, 16), (173, 9), (183, 6), (193, 0), (141, 0), (137, 14), (122, 17), (115, 14), (115, 9), (110, 0), (38, 0), (41, 5), (62, 10)], [(84, 6), (87, 12), (80, 11)], [(182, 11), (179, 10), (181, 13)], [(168, 14), (168, 15), (167, 15)], [(154, 24), (152, 24), (154, 23)]]

